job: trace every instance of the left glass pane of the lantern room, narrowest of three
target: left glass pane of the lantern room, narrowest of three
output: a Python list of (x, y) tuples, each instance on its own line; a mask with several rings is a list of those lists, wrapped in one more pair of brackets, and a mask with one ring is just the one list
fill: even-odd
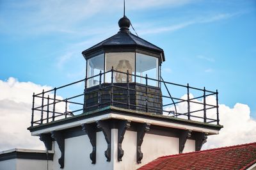
[[(99, 84), (99, 76), (93, 77), (94, 75), (98, 75), (101, 72), (104, 72), (104, 54), (100, 54), (99, 56), (95, 56), (87, 60), (87, 87), (90, 88), (92, 86), (96, 86)], [(90, 78), (93, 77), (93, 78)], [(102, 77), (101, 77), (102, 79)], [(103, 82), (103, 79), (102, 79)]]

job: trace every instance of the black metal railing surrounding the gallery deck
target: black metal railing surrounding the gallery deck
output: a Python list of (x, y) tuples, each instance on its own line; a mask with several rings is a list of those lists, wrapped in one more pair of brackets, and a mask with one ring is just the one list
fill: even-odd
[[(125, 82), (116, 82), (114, 74), (125, 74), (127, 79)], [(106, 77), (110, 74), (111, 78)], [(129, 77), (132, 76), (132, 82)], [(97, 79), (97, 85), (89, 87), (90, 80)], [(136, 83), (136, 79), (145, 79), (145, 84)], [(148, 85), (148, 81), (156, 82), (157, 86), (164, 85), (164, 88), (154, 87)], [(83, 83), (84, 91), (71, 95), (72, 97), (63, 98), (58, 95), (58, 91), (66, 90), (70, 86), (77, 87), (77, 84)], [(140, 88), (135, 88), (134, 84), (140, 85)], [(152, 92), (152, 89), (160, 93)], [(153, 91), (154, 91), (153, 90)], [(116, 91), (118, 97), (116, 97)], [(76, 91), (75, 91), (76, 92)], [(121, 95), (120, 95), (120, 94)], [(134, 102), (134, 96), (140, 93), (142, 100), (140, 104)], [(172, 93), (172, 95), (171, 95)], [(134, 95), (135, 94), (135, 95)], [(174, 95), (173, 95), (174, 94)], [(195, 97), (193, 95), (196, 95)], [(176, 96), (176, 97), (174, 97)], [(177, 97), (179, 96), (179, 97)], [(121, 99), (120, 99), (121, 97)], [(125, 98), (125, 100), (122, 99)], [(152, 98), (161, 100), (161, 107), (155, 107)], [(94, 100), (94, 99), (95, 100)], [(154, 99), (153, 98), (153, 99)], [(94, 102), (90, 102), (93, 100)], [(95, 102), (96, 101), (96, 102)], [(153, 104), (153, 105), (152, 105)], [(163, 79), (151, 79), (147, 75), (145, 77), (134, 75), (129, 72), (118, 72), (116, 70), (109, 70), (108, 72), (100, 72), (93, 77), (86, 77), (80, 81), (72, 82), (59, 88), (54, 88), (42, 93), (33, 94), (31, 127), (49, 123), (51, 121), (65, 119), (70, 116), (81, 114), (96, 109), (114, 105), (125, 109), (134, 109), (145, 112), (155, 112), (156, 114), (164, 114), (176, 118), (186, 120), (201, 121), (204, 123), (216, 123), (219, 125), (219, 110), (218, 110), (218, 90), (209, 91), (205, 88), (193, 88), (189, 84), (181, 85), (172, 82), (166, 82)]]

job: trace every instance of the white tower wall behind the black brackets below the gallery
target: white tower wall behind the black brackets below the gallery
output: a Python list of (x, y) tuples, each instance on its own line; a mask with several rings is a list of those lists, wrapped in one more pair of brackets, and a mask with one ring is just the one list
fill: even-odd
[[(92, 145), (88, 135), (81, 135), (78, 137), (71, 137), (65, 139), (65, 169), (127, 169), (133, 170), (147, 164), (148, 162), (164, 155), (172, 155), (179, 153), (179, 138), (168, 137), (156, 134), (145, 134), (141, 151), (143, 158), (141, 164), (136, 162), (136, 142), (137, 132), (127, 130), (122, 142), (122, 149), (124, 156), (122, 161), (118, 161), (118, 129), (111, 129), (111, 161), (107, 162), (104, 151), (108, 145), (106, 143), (104, 134), (97, 132), (97, 150), (96, 150), (96, 164), (92, 164), (90, 160), (90, 153), (92, 152)], [(54, 159), (53, 169), (61, 169), (58, 163), (58, 158), (61, 156), (58, 144), (54, 142)], [(184, 151), (195, 151), (195, 141), (188, 139), (185, 144)]]

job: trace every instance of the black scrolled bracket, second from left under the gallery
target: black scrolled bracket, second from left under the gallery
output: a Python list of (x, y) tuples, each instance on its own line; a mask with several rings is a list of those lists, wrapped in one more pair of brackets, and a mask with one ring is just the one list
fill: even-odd
[(61, 132), (52, 131), (51, 134), (52, 134), (52, 138), (56, 140), (61, 151), (61, 157), (59, 158), (60, 168), (64, 168), (65, 139)]

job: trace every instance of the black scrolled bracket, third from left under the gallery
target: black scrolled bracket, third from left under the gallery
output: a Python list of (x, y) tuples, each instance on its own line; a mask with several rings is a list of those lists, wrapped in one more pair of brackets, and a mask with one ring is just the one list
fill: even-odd
[(82, 125), (82, 130), (86, 132), (90, 139), (90, 143), (92, 144), (92, 153), (90, 153), (90, 159), (92, 160), (92, 164), (96, 164), (96, 130), (97, 127), (94, 123)]

